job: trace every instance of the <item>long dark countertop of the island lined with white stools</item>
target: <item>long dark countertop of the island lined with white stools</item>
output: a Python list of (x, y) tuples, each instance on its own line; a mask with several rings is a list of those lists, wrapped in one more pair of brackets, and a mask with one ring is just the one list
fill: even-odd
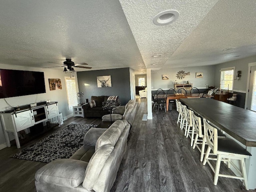
[(180, 101), (242, 144), (256, 147), (256, 112), (210, 98)]

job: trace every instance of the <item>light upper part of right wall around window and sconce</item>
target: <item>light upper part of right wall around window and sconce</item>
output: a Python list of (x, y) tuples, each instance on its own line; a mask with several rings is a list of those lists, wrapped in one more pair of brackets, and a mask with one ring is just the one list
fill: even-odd
[(246, 92), (246, 84), (247, 84), (247, 77), (248, 77), (248, 63), (256, 62), (256, 56), (247, 57), (243, 59), (238, 59), (230, 62), (225, 62), (216, 65), (215, 67), (215, 85), (220, 87), (220, 69), (227, 68), (227, 67), (236, 67), (235, 75), (237, 71), (242, 71), (242, 76), (240, 80), (234, 80), (234, 88), (237, 92), (243, 91)]

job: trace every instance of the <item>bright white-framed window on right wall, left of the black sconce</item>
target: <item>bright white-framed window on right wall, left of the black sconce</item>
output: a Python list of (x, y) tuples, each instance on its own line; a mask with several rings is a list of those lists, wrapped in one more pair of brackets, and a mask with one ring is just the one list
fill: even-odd
[(220, 69), (220, 89), (233, 90), (235, 67)]

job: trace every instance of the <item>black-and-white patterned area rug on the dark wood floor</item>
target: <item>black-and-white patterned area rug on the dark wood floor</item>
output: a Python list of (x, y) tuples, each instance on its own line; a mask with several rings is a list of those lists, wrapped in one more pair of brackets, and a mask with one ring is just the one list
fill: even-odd
[(12, 158), (46, 163), (69, 158), (83, 145), (86, 132), (96, 126), (96, 124), (70, 124), (25, 148)]

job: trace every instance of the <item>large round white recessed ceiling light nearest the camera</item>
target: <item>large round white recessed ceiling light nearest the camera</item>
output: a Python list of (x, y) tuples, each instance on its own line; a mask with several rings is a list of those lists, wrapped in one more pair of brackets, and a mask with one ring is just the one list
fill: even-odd
[(166, 10), (158, 13), (153, 22), (156, 25), (167, 25), (170, 24), (178, 19), (180, 13), (176, 10)]

